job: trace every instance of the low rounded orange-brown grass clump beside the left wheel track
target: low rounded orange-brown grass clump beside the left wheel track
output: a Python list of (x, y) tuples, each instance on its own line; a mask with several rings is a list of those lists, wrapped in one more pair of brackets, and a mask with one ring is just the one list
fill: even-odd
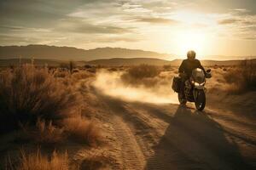
[(100, 138), (99, 129), (95, 123), (83, 117), (71, 117), (63, 121), (65, 131), (69, 137), (80, 143), (95, 145)]

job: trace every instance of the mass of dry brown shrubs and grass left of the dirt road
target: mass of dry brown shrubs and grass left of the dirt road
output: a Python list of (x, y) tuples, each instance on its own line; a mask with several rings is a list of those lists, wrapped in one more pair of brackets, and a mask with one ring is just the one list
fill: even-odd
[[(96, 146), (101, 140), (100, 130), (96, 122), (81, 113), (84, 100), (76, 88), (80, 80), (93, 77), (94, 73), (75, 68), (72, 74), (70, 71), (34, 65), (1, 71), (1, 135), (18, 132), (15, 141), (20, 146), (39, 144), (42, 149), (69, 142)], [(42, 155), (40, 150), (29, 153), (23, 150), (18, 160), (9, 157), (6, 169), (73, 169), (67, 153), (56, 151), (49, 156), (49, 153)]]

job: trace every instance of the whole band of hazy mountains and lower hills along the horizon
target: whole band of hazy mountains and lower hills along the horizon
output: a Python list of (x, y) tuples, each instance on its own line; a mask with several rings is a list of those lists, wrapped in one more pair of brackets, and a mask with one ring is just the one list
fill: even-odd
[[(175, 55), (127, 48), (81, 49), (47, 45), (0, 46), (0, 66), (31, 63), (35, 65), (60, 65), (73, 60), (77, 65), (180, 65)], [(174, 59), (174, 60), (167, 60)], [(213, 58), (214, 59), (214, 58)], [(228, 59), (228, 58), (227, 58)], [(240, 65), (242, 59), (201, 60), (202, 65)], [(256, 59), (253, 59), (256, 63)]]

